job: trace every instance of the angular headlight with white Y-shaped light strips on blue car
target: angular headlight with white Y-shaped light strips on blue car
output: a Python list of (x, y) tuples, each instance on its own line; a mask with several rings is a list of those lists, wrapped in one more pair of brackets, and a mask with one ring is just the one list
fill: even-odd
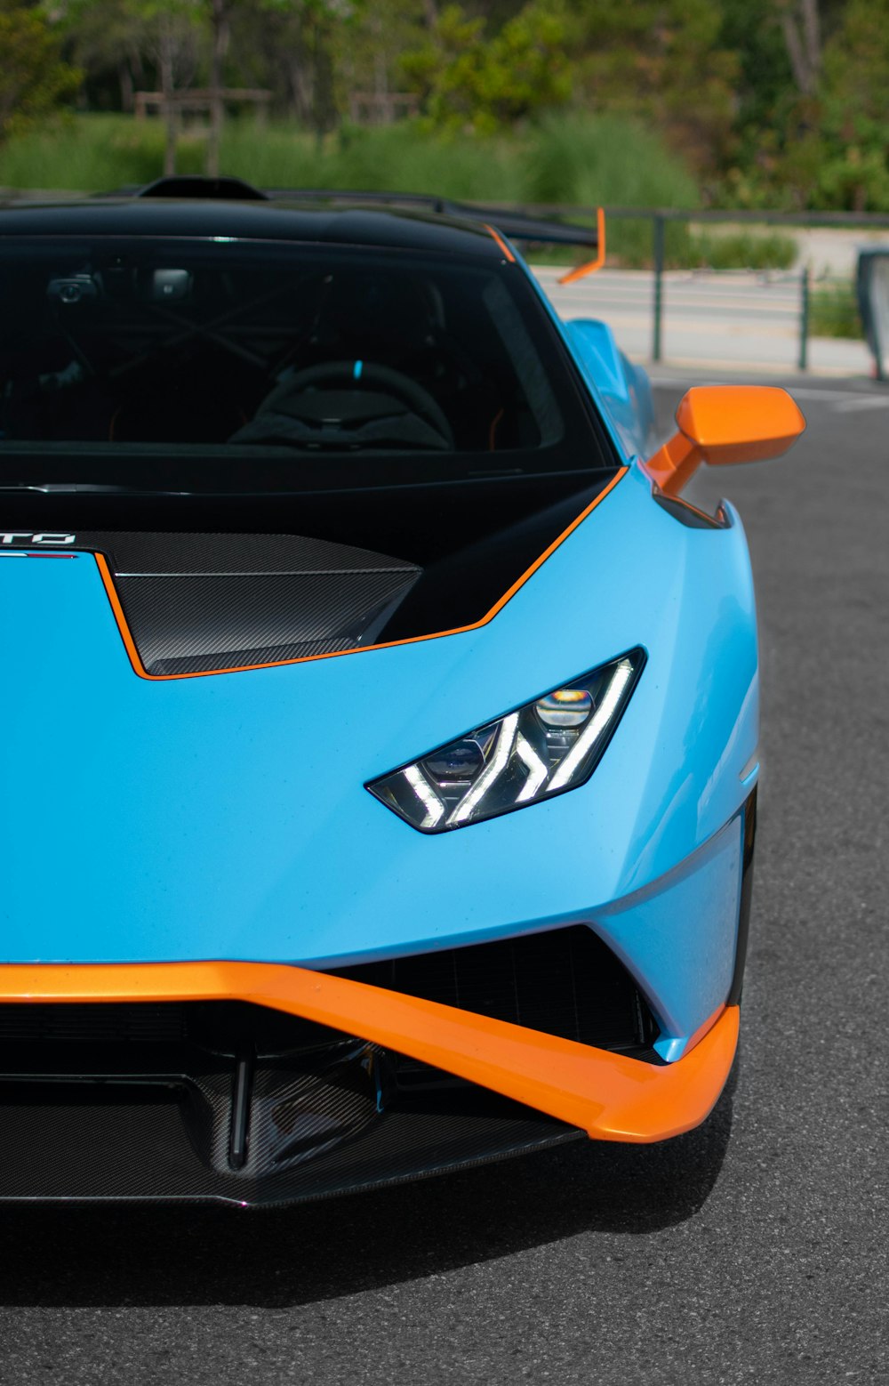
[(367, 789), (422, 833), (465, 827), (589, 780), (645, 663), (630, 650)]

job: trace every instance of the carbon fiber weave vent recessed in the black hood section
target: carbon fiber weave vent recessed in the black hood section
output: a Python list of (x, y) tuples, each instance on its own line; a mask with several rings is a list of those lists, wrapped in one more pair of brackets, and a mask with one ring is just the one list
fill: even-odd
[(102, 553), (148, 674), (199, 674), (372, 644), (421, 568), (325, 539), (78, 534)]

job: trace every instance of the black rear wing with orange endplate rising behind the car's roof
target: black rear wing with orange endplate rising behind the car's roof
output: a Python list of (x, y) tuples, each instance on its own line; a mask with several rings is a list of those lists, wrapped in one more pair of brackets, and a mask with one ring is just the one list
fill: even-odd
[[(140, 188), (120, 188), (133, 197), (195, 197), (235, 201), (307, 202), (325, 207), (392, 207), (407, 211), (435, 212), (438, 216), (468, 218), (481, 222), (510, 256), (508, 245), (500, 234), (514, 241), (533, 241), (537, 245), (577, 245), (595, 252), (594, 258), (562, 274), (559, 284), (571, 284), (595, 273), (605, 263), (605, 213), (595, 209), (595, 226), (562, 219), (564, 212), (583, 215), (582, 208), (521, 208), (497, 202), (454, 202), (447, 197), (425, 193), (368, 193), (330, 187), (270, 187), (258, 188), (237, 177), (199, 177), (170, 175)], [(500, 234), (497, 234), (500, 233)]]

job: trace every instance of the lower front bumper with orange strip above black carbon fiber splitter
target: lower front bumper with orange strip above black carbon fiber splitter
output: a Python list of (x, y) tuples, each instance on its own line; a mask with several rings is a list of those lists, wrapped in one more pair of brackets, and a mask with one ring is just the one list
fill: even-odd
[[(100, 1070), (71, 1049), (39, 1071), (7, 1062), (0, 1199), (282, 1203), (583, 1132), (662, 1141), (705, 1120), (738, 1037), (738, 1008), (720, 1008), (680, 1060), (645, 1062), (276, 963), (1, 966), (0, 1005), (18, 1003), (162, 1019), (223, 1005), (241, 1017), (298, 1017), (306, 1033), (296, 1073), (274, 1058), (258, 1066), (252, 1035), (240, 1049), (237, 1015), (188, 1074), (174, 1046), (136, 1064), (138, 1033), (116, 1063), (105, 1046)], [(274, 1055), (274, 1038), (266, 1051)]]

